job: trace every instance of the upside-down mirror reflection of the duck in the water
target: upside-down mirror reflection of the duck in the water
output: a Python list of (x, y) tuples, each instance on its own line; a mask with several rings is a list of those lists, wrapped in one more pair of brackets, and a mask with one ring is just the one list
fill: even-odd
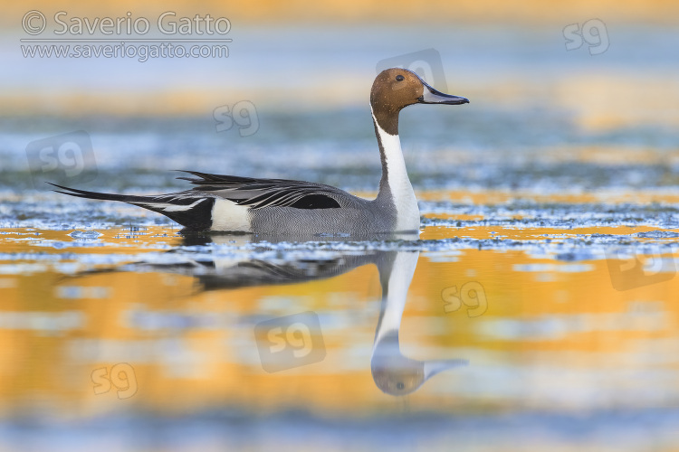
[[(220, 257), (218, 252), (192, 251), (194, 246), (225, 245), (237, 247), (250, 243), (258, 245), (258, 250), (272, 250), (282, 241), (294, 241), (293, 250), (301, 243), (299, 237), (282, 240), (280, 237), (257, 237), (235, 235), (191, 235), (183, 239), (183, 248), (169, 252), (181, 253), (180, 262), (173, 263), (136, 262), (127, 264), (123, 271), (132, 269), (180, 273), (191, 275), (199, 283), (200, 290), (216, 290), (237, 287), (271, 286), (294, 284), (305, 281), (331, 278), (367, 264), (375, 264), (382, 287), (382, 301), (378, 319), (375, 343), (370, 359), (373, 380), (378, 388), (390, 395), (402, 396), (416, 391), (425, 381), (436, 373), (467, 364), (465, 360), (417, 361), (404, 356), (399, 347), (398, 332), (401, 318), (406, 307), (407, 291), (415, 273), (419, 251), (379, 250), (378, 248), (397, 248), (388, 246), (393, 240), (416, 240), (415, 234), (399, 234), (389, 237), (366, 238), (379, 240), (385, 247), (368, 247), (368, 250), (342, 251), (341, 247), (329, 247), (332, 252), (322, 258), (313, 253), (282, 251), (267, 257), (266, 253), (254, 253), (245, 258)], [(347, 241), (356, 238), (308, 238), (307, 241)], [(192, 254), (199, 259), (192, 259)], [(207, 257), (206, 257), (207, 256)], [(264, 256), (264, 257), (262, 257)]]

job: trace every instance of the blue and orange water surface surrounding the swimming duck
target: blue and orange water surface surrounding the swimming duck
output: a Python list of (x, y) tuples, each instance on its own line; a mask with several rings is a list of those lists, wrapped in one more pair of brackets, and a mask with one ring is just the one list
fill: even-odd
[[(598, 56), (549, 26), (344, 32), (0, 76), (25, 91), (0, 124), (0, 449), (679, 447), (674, 31), (609, 23)], [(374, 196), (376, 61), (429, 47), (472, 103), (401, 115), (419, 236), (182, 236), (45, 184), (167, 193), (190, 169)], [(242, 99), (256, 133), (218, 132)], [(40, 169), (31, 143), (79, 130), (82, 171)]]

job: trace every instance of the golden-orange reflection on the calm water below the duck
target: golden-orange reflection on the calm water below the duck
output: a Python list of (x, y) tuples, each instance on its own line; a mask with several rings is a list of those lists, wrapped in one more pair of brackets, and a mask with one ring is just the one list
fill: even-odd
[[(548, 235), (587, 240), (591, 234), (651, 230), (438, 226), (426, 228), (420, 239), (499, 236), (542, 243)], [(617, 290), (611, 277), (617, 261), (611, 266), (596, 256), (559, 260), (502, 247), (421, 251), (419, 257), (398, 252), (396, 259), (416, 264), (401, 315), (388, 305), (398, 300), (387, 305), (380, 300), (380, 277), (382, 284), (385, 275), (396, 275), (394, 284), (407, 278), (394, 269), (397, 263), (388, 268), (367, 261), (327, 278), (275, 285), (243, 280), (239, 287), (238, 280), (225, 277), (253, 261), (239, 261), (237, 253), (218, 259), (209, 256), (217, 251), (204, 250), (210, 266), (163, 266), (183, 243), (169, 228), (106, 230), (89, 242), (72, 240), (69, 231), (5, 232), (0, 239), (5, 417), (45, 407), (74, 417), (120, 410), (301, 409), (351, 416), (402, 410), (400, 396), (378, 386), (376, 372), (396, 384), (388, 391), (408, 394), (407, 410), (413, 411), (531, 406), (584, 412), (665, 403), (635, 397), (648, 390), (634, 375), (652, 381), (666, 400), (679, 397), (674, 273), (653, 284), (629, 277), (628, 286)], [(220, 247), (247, 241), (226, 236)], [(10, 253), (18, 259), (8, 259)], [(115, 262), (97, 260), (110, 256)], [(134, 264), (145, 257), (152, 262)], [(676, 254), (665, 251), (664, 257), (675, 260)], [(280, 264), (265, 263), (272, 262)], [(213, 264), (218, 270), (207, 278), (201, 266)], [(386, 354), (376, 371), (371, 355), (375, 367), (376, 331), (385, 309), (381, 323), (397, 325), (397, 342), (384, 336)], [(255, 325), (310, 311), (320, 318), (320, 332), (312, 333), (322, 335), (324, 358), (265, 372), (266, 335), (255, 338)], [(426, 370), (445, 360), (465, 364), (437, 371), (431, 381), (417, 370), (418, 363)], [(401, 367), (390, 368), (391, 363)], [(602, 395), (587, 397), (602, 385)]]

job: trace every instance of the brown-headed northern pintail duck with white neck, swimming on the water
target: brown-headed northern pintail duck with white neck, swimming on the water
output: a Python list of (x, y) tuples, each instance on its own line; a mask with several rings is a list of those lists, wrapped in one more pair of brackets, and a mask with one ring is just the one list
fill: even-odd
[(387, 69), (370, 90), (370, 108), (382, 160), (377, 198), (368, 200), (330, 185), (186, 171), (196, 187), (156, 196), (95, 193), (55, 185), (59, 193), (122, 201), (162, 213), (183, 231), (258, 234), (350, 234), (418, 231), (420, 214), (398, 137), (398, 114), (414, 104), (459, 105), (469, 100), (444, 94), (415, 72)]

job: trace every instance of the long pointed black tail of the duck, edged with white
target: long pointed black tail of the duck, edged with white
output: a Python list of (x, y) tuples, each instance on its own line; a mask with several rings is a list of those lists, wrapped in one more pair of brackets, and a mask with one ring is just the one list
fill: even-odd
[(209, 231), (210, 227), (212, 227), (212, 208), (215, 205), (215, 198), (208, 197), (203, 193), (196, 193), (193, 190), (158, 194), (155, 196), (134, 196), (129, 194), (87, 192), (62, 185), (48, 184), (65, 190), (64, 192), (54, 190), (56, 193), (69, 194), (79, 198), (127, 202), (149, 211), (162, 213), (170, 220), (177, 221), (184, 226), (183, 231)]

